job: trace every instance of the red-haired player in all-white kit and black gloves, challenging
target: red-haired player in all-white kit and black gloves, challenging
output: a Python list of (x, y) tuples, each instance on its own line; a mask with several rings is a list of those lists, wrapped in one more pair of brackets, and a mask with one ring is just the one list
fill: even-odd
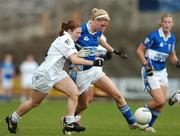
[(74, 46), (81, 35), (80, 24), (75, 21), (68, 21), (62, 24), (59, 36), (51, 44), (45, 61), (37, 68), (32, 79), (33, 93), (31, 99), (22, 103), (15, 112), (6, 117), (8, 130), (16, 133), (17, 123), (21, 117), (34, 107), (40, 105), (48, 95), (48, 90), (55, 88), (68, 96), (66, 122), (63, 131), (84, 131), (85, 128), (75, 123), (74, 112), (76, 109), (79, 90), (72, 79), (63, 70), (66, 59), (73, 64), (102, 66), (102, 60), (87, 61), (77, 56)]

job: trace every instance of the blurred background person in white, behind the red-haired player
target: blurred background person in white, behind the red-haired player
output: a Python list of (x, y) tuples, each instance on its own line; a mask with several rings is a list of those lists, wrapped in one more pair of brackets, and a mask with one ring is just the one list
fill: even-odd
[(32, 77), (37, 67), (38, 63), (34, 60), (34, 56), (32, 54), (28, 54), (26, 60), (20, 65), (22, 87), (22, 95), (20, 98), (21, 102), (26, 101), (31, 96)]

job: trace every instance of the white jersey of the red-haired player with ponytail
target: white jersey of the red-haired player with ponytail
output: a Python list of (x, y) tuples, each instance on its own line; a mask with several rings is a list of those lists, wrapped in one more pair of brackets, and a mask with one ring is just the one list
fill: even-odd
[(36, 72), (47, 72), (50, 76), (56, 77), (63, 69), (66, 59), (74, 53), (77, 53), (74, 41), (67, 32), (64, 32), (63, 36), (57, 37), (51, 44), (45, 61), (40, 65)]

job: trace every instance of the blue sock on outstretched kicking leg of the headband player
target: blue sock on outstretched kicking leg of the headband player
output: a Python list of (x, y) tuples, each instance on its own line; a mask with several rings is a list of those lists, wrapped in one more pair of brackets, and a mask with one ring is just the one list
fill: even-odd
[(118, 107), (119, 111), (122, 112), (123, 116), (127, 120), (128, 124), (134, 124), (136, 121), (131, 113), (130, 107), (126, 104), (123, 107)]

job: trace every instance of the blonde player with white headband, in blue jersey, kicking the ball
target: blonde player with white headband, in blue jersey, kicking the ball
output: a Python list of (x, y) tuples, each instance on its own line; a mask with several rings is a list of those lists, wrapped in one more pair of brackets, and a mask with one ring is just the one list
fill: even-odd
[[(96, 59), (96, 49), (99, 44), (106, 48), (110, 53), (120, 55), (122, 59), (126, 59), (127, 55), (123, 51), (114, 50), (105, 40), (103, 40), (102, 31), (108, 26), (110, 17), (103, 9), (92, 9), (91, 20), (86, 24), (82, 24), (81, 37), (78, 39), (77, 49), (84, 48), (90, 51), (90, 54), (85, 57), (86, 60), (94, 61)], [(117, 108), (127, 120), (130, 128), (143, 128), (136, 123), (130, 107), (126, 103), (123, 95), (114, 85), (111, 79), (102, 71), (92, 66), (75, 65), (71, 66), (71, 77), (74, 78), (76, 85), (80, 90), (78, 106), (76, 108), (76, 117), (84, 109), (87, 108), (89, 99), (89, 87), (94, 84), (101, 90), (108, 93), (116, 102)], [(77, 120), (78, 121), (78, 118)]]

